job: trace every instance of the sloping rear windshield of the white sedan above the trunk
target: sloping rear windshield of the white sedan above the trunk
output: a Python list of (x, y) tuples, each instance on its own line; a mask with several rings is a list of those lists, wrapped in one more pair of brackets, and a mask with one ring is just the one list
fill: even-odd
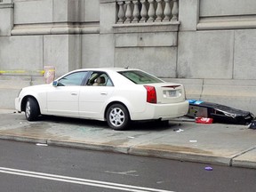
[(155, 84), (164, 82), (161, 79), (156, 78), (156, 76), (150, 76), (139, 70), (120, 71), (119, 73), (131, 80), (134, 84)]

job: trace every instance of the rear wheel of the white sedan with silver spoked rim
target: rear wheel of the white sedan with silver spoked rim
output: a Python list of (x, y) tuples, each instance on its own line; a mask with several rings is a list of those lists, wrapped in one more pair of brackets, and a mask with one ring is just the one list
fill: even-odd
[(121, 104), (113, 104), (107, 111), (108, 126), (116, 131), (127, 129), (130, 124), (130, 115), (127, 108)]

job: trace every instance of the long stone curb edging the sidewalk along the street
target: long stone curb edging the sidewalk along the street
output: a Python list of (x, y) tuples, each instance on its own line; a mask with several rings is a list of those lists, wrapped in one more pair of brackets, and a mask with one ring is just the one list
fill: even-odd
[(81, 143), (81, 142), (71, 142), (63, 140), (52, 140), (52, 139), (35, 139), (29, 137), (20, 137), (13, 135), (0, 135), (2, 140), (15, 140), (21, 142), (29, 143), (40, 143), (47, 144), (48, 146), (58, 146), (66, 148), (81, 148), (86, 150), (97, 150), (97, 151), (106, 151), (113, 153), (120, 153), (133, 156), (151, 156), (157, 158), (164, 158), (170, 160), (178, 160), (181, 162), (193, 162), (193, 163), (203, 163), (203, 164), (217, 164), (225, 166), (244, 167), (244, 168), (253, 168), (256, 169), (256, 163), (248, 161), (236, 161), (232, 157), (225, 156), (204, 156), (196, 155), (182, 152), (172, 152), (166, 150), (156, 150), (152, 148), (140, 148), (140, 147), (120, 147), (120, 146), (110, 146), (110, 145), (99, 145), (93, 143)]

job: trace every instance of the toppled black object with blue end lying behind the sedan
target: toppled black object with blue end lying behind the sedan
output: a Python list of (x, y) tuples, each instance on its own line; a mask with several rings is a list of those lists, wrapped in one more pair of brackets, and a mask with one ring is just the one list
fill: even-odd
[(224, 124), (250, 124), (254, 115), (249, 111), (244, 111), (212, 102), (202, 100), (188, 100), (189, 117), (212, 118), (214, 123)]

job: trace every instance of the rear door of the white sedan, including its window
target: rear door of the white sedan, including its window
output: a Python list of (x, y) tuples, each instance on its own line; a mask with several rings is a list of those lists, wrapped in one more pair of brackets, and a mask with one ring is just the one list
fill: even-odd
[(105, 107), (113, 91), (114, 84), (105, 72), (92, 72), (87, 84), (80, 90), (79, 115), (84, 118), (103, 119)]

